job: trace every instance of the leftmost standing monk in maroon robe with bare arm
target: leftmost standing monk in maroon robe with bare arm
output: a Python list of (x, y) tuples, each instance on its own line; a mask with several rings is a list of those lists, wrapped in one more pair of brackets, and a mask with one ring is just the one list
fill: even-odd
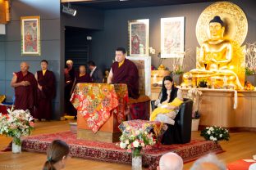
[(11, 87), (15, 89), (15, 109), (30, 110), (30, 114), (34, 116), (34, 106), (37, 104), (37, 82), (29, 69), (28, 63), (21, 62), (21, 71), (13, 74)]

